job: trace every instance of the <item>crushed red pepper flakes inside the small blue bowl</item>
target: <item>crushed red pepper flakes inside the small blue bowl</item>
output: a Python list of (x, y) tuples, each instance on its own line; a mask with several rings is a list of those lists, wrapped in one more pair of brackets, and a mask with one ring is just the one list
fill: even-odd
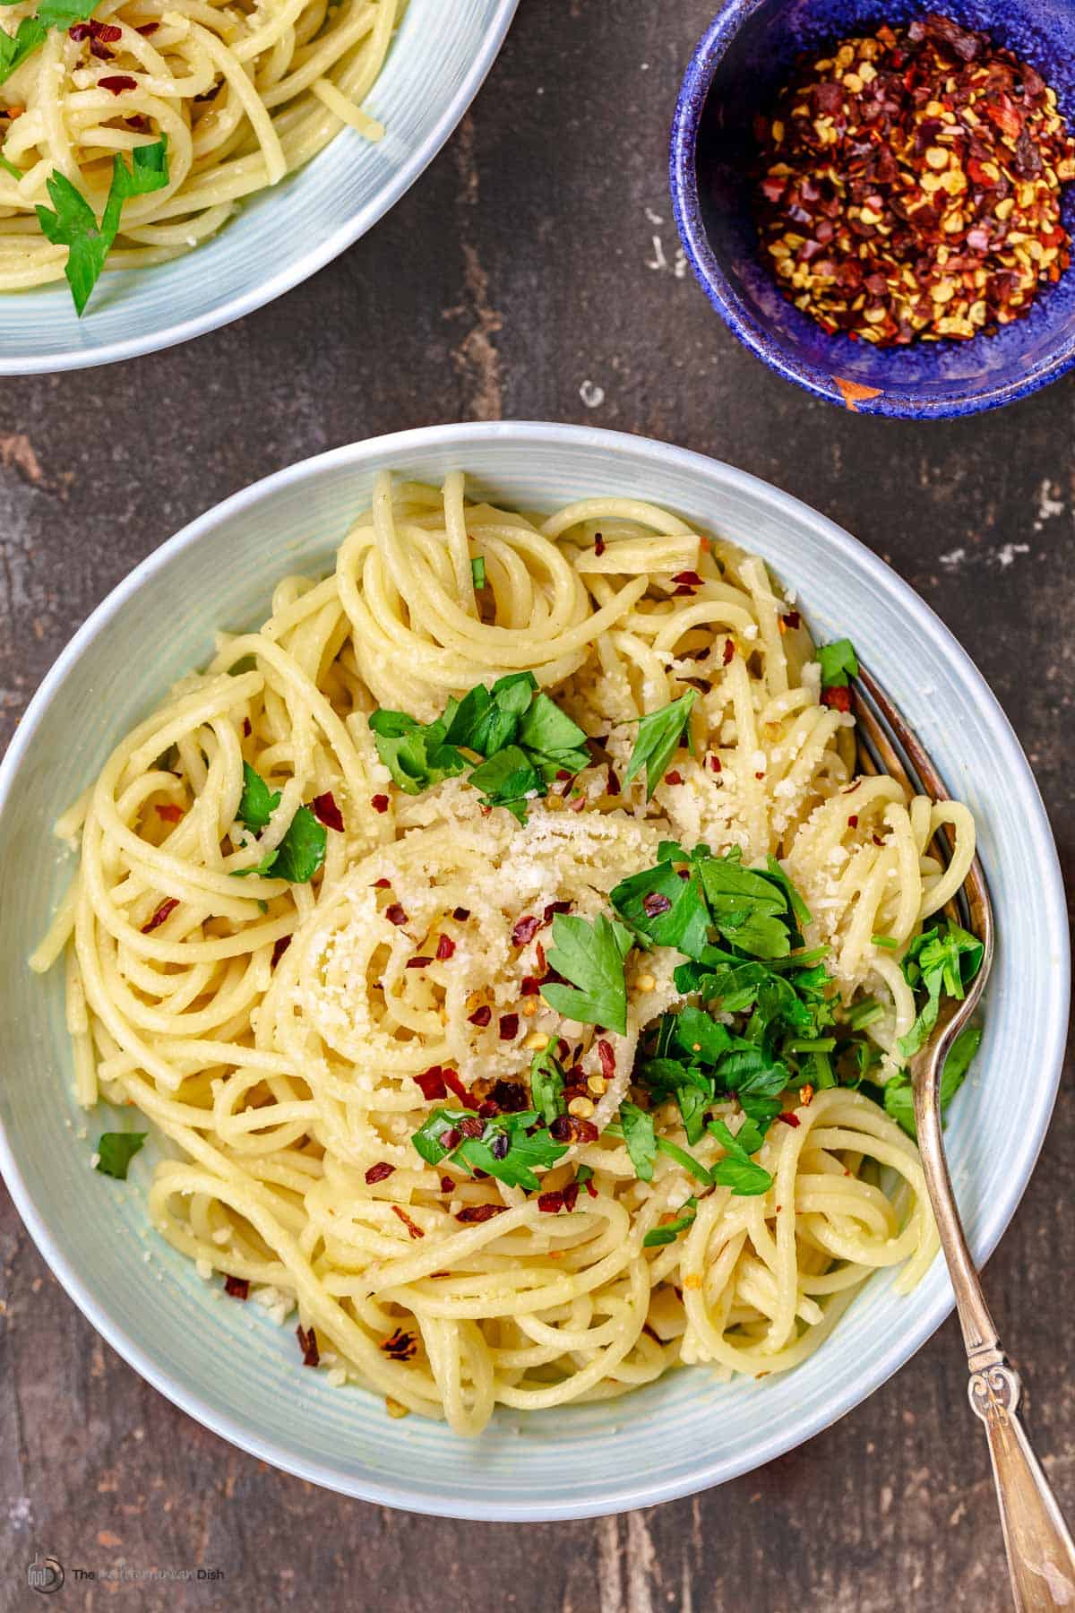
[(882, 24), (804, 61), (757, 137), (762, 253), (830, 336), (993, 334), (1069, 268), (1075, 140), (1056, 94), (951, 18)]

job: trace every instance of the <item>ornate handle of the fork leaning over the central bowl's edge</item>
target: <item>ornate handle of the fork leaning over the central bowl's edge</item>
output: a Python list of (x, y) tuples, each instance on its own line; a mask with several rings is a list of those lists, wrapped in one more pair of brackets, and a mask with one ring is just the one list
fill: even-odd
[(924, 1065), (915, 1069), (914, 1082), (919, 1148), (956, 1290), (970, 1369), (970, 1408), (985, 1423), (990, 1440), (1012, 1600), (1017, 1613), (1075, 1613), (1075, 1545), (1019, 1418), (1019, 1373), (1001, 1350), (953, 1197), (936, 1107), (949, 1039), (951, 1031), (938, 1036), (914, 1061)]

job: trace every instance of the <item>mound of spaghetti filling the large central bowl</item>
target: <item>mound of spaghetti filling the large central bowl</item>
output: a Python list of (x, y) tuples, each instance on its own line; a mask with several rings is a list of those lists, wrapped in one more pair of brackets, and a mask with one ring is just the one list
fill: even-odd
[[(437, 748), (487, 710), (479, 686), (532, 711), (537, 689), (546, 734), (588, 740), (574, 766), (546, 755), (537, 787), (522, 768), (511, 810)], [(380, 476), (335, 569), (282, 579), (259, 629), (221, 634), (58, 826), (81, 861), (32, 963), (66, 955), (81, 1103), (153, 1124), (153, 1226), (298, 1323), (306, 1365), (461, 1434), (498, 1403), (604, 1398), (675, 1363), (782, 1371), (872, 1273), (911, 1287), (935, 1232), (875, 1095), (915, 1019), (901, 961), (959, 889), (973, 823), (857, 777), (846, 703), (762, 561), (654, 505), (527, 516), (469, 502), (458, 473)], [(669, 710), (682, 744), (632, 776)], [(513, 721), (535, 756), (537, 718)], [(629, 907), (645, 869), (674, 897), (704, 884), (719, 945), (646, 940), (675, 902)], [(762, 881), (762, 936), (793, 882), (788, 957), (751, 963), (766, 948), (735, 900), (712, 918), (725, 877)], [(629, 911), (632, 931), (611, 923)], [(567, 940), (598, 932), (619, 937), (619, 1026), (566, 1011)], [(790, 973), (822, 955), (820, 986)], [(835, 1034), (785, 1039), (798, 1077), (782, 1065), (749, 1103), (749, 1016), (717, 1002), (696, 1023), (735, 1042), (738, 1076), (704, 1113), (677, 1107), (648, 1073), (714, 992), (677, 981), (685, 957), (772, 992), (785, 969), (803, 1002), (814, 981)], [(840, 1065), (856, 1015), (874, 1097)], [(504, 1168), (527, 1147), (546, 1150), (530, 1186)]]

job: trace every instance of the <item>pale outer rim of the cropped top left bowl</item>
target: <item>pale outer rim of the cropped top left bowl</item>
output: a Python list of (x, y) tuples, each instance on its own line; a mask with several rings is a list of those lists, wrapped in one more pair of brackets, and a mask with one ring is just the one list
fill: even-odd
[[(508, 29), (511, 27), (511, 19), (516, 15), (519, 0), (495, 0), (496, 11), (493, 21), (490, 23), (482, 48), (471, 63), (459, 89), (451, 97), (440, 118), (429, 131), (421, 145), (416, 145), (408, 160), (393, 174), (390, 184), (372, 197), (366, 206), (359, 208), (351, 215), (337, 231), (326, 235), (324, 240), (316, 242), (309, 252), (303, 253), (295, 263), (280, 269), (277, 274), (271, 274), (268, 279), (259, 281), (251, 286), (250, 290), (242, 292), (239, 297), (232, 297), (229, 302), (221, 303), (216, 308), (210, 308), (193, 319), (182, 319), (179, 324), (164, 326), (163, 331), (147, 332), (145, 336), (131, 336), (121, 342), (106, 342), (103, 347), (69, 347), (63, 353), (48, 353), (39, 358), (5, 358), (0, 353), (0, 376), (50, 376), (68, 369), (92, 369), (97, 365), (114, 365), (124, 358), (139, 358), (143, 353), (163, 353), (169, 347), (177, 347), (181, 342), (190, 342), (195, 336), (206, 336), (210, 331), (219, 331), (224, 324), (232, 324), (235, 319), (245, 318), (248, 313), (255, 313), (258, 308), (264, 308), (266, 303), (276, 302), (284, 292), (290, 292), (295, 286), (301, 286), (308, 281), (311, 274), (318, 269), (324, 269), (327, 263), (338, 258), (342, 252), (353, 247), (367, 231), (377, 224), (385, 213), (388, 213), (400, 197), (403, 197), (414, 181), (429, 168), (432, 160), (438, 155), (440, 148), (448, 142), (464, 113), (467, 111), (471, 102), (480, 90), (485, 76), (496, 61), (500, 55), (500, 47), (504, 42)], [(343, 131), (340, 131), (343, 132)], [(338, 135), (334, 135), (338, 139)], [(301, 173), (301, 169), (297, 169)], [(227, 227), (227, 226), (226, 226)], [(193, 248), (197, 252), (197, 247)], [(151, 274), (153, 269), (143, 269), (140, 273)], [(92, 318), (92, 316), (90, 316)]]

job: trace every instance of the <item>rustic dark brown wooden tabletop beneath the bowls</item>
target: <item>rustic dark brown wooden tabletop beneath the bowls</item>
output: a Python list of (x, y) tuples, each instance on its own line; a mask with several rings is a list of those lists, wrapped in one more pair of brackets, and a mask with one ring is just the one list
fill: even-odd
[[(1004, 702), (1070, 857), (1075, 376), (977, 419), (872, 421), (812, 402), (732, 340), (685, 271), (666, 184), (675, 87), (711, 6), (522, 0), (448, 148), (330, 268), (187, 347), (3, 384), (5, 739), (90, 608), (235, 489), (429, 421), (587, 421), (754, 471), (890, 560)], [(990, 1266), (1069, 1513), (1073, 1176), (1062, 1095)], [(74, 1310), (6, 1198), (0, 1255), (3, 1608), (39, 1605), (26, 1589), (35, 1550), (227, 1576), (111, 1594), (69, 1581), (56, 1602), (84, 1608), (1007, 1607), (953, 1323), (836, 1428), (724, 1489), (619, 1519), (463, 1524), (316, 1490), (176, 1411)]]

